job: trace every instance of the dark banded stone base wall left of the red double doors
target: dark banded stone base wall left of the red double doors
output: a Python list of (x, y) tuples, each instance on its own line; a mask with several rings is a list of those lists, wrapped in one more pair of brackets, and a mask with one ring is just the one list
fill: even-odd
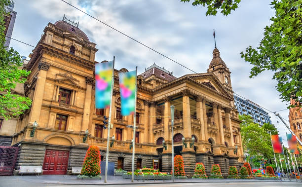
[(19, 146), (14, 174), (19, 174), (21, 165), (43, 166), (45, 150), (45, 145), (22, 143)]

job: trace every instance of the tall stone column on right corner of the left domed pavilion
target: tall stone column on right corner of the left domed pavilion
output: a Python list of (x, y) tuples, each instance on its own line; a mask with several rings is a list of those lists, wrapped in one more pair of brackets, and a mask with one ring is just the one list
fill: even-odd
[(91, 92), (92, 92), (92, 84), (94, 83), (94, 79), (91, 77), (86, 77), (86, 94), (84, 100), (84, 110), (83, 110), (83, 120), (81, 131), (85, 132), (88, 129), (89, 118), (90, 118), (90, 104), (91, 104)]

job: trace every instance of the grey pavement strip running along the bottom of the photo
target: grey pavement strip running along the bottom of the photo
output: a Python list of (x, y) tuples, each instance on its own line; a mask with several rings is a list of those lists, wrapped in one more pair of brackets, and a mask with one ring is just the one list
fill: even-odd
[[(20, 183), (36, 183), (36, 184), (59, 184), (59, 185), (131, 185), (131, 184), (168, 184), (168, 183), (236, 183), (236, 182), (276, 182), (278, 180), (256, 180), (256, 179), (177, 179), (175, 182), (172, 180), (158, 180), (158, 181), (137, 181), (131, 183), (130, 179), (123, 179), (121, 176), (108, 176), (107, 183), (104, 183), (104, 176), (102, 180), (77, 180), (76, 176), (72, 175), (41, 175), (41, 176), (0, 176), (0, 182), (6, 180), (18, 181)], [(289, 182), (289, 180), (282, 180), (282, 182)], [(296, 182), (296, 180), (291, 180)], [(298, 180), (299, 183), (300, 180)]]

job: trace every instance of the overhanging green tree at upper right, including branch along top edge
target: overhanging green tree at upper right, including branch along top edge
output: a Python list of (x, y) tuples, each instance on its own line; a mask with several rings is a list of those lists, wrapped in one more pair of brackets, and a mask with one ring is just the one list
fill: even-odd
[[(181, 0), (189, 2), (190, 0)], [(192, 5), (207, 6), (206, 15), (217, 10), (228, 15), (240, 0), (193, 0)], [(276, 89), (282, 101), (296, 101), (290, 107), (302, 107), (302, 0), (272, 0), (275, 15), (271, 25), (264, 28), (264, 37), (257, 48), (249, 46), (241, 57), (254, 67), (250, 78), (265, 70), (274, 72)]]

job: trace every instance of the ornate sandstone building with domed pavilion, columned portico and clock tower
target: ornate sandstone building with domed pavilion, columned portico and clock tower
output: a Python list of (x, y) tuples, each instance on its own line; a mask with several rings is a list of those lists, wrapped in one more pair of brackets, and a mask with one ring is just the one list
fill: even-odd
[[(41, 165), (44, 174), (65, 174), (71, 167), (81, 167), (89, 145), (98, 146), (105, 159), (108, 129), (103, 128), (103, 116), (108, 116), (109, 110), (95, 109), (95, 47), (78, 24), (66, 18), (45, 27), (26, 66), (31, 74), (24, 91), (33, 104), (19, 117), (13, 135), (12, 145), (19, 146), (16, 173), (20, 165)], [(120, 113), (119, 71), (128, 70), (114, 70), (110, 134), (115, 141), (109, 161), (115, 162), (115, 168), (131, 170), (133, 132), (127, 125), (133, 124), (134, 117)], [(173, 135), (171, 105), (175, 106)], [(136, 112), (138, 168), (145, 165), (170, 172), (172, 137), (175, 153), (184, 157), (188, 175), (194, 172), (196, 162), (203, 162), (208, 173), (212, 164), (219, 163), (225, 175), (229, 165), (243, 162), (230, 72), (217, 48), (206, 73), (175, 77), (153, 64), (138, 75)], [(31, 137), (35, 121), (38, 127)], [(88, 137), (83, 142), (86, 129)], [(190, 146), (192, 137), (195, 142)], [(163, 140), (167, 150), (162, 147)]]

